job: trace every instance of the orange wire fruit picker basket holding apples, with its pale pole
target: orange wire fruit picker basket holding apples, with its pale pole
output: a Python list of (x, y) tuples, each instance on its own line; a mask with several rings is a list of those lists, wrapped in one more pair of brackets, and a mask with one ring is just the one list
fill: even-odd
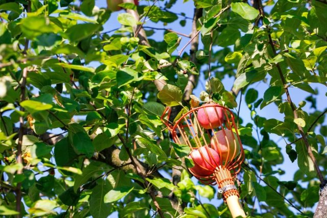
[[(218, 184), (232, 217), (245, 213), (234, 178), (244, 161), (243, 146), (233, 113), (216, 103), (203, 104), (169, 122), (171, 107), (161, 116), (177, 144), (187, 144), (194, 166), (189, 171), (203, 184)], [(177, 115), (178, 116), (178, 115)]]

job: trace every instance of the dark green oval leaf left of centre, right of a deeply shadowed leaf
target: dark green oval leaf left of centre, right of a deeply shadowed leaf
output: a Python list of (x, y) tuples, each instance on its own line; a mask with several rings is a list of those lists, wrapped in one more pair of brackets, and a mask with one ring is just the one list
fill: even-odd
[(91, 158), (95, 152), (92, 141), (86, 132), (75, 133), (73, 136), (73, 144), (74, 148), (76, 148), (80, 154), (85, 154), (88, 158)]

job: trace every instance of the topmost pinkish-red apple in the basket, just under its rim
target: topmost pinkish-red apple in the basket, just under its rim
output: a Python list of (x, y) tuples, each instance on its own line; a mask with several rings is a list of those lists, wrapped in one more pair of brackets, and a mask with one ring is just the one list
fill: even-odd
[(199, 123), (204, 129), (211, 129), (210, 124), (212, 128), (217, 128), (224, 122), (225, 119), (224, 109), (218, 107), (217, 104), (208, 104), (208, 105), (212, 105), (212, 106), (200, 108), (198, 110), (197, 117)]

